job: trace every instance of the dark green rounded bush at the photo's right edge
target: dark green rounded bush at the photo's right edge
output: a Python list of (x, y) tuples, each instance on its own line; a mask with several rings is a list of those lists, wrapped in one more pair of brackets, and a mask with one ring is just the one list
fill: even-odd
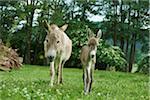
[(149, 59), (150, 55), (146, 55), (145, 57), (142, 58), (142, 60), (139, 61), (137, 70), (138, 72), (149, 74), (150, 72)]

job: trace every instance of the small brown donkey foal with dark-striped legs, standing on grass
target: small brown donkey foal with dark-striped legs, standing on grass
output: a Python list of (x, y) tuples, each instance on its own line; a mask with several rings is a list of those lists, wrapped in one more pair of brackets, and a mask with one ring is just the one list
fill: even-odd
[(99, 42), (99, 38), (102, 35), (101, 30), (97, 32), (97, 35), (88, 30), (88, 45), (83, 46), (81, 49), (80, 60), (83, 66), (83, 83), (84, 94), (88, 94), (91, 91), (93, 82), (93, 71), (96, 63), (96, 52)]

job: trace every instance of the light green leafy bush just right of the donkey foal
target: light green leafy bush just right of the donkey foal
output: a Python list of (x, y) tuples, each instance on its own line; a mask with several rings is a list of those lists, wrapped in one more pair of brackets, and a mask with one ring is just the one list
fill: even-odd
[(122, 71), (127, 63), (125, 55), (119, 47), (108, 45), (103, 40), (100, 41), (100, 46), (98, 46), (97, 60), (98, 63), (107, 64), (107, 67), (115, 67), (116, 70)]

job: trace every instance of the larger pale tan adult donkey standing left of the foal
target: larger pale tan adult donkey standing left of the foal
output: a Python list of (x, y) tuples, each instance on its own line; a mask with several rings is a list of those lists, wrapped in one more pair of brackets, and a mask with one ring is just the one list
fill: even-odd
[(47, 35), (44, 41), (45, 57), (50, 62), (50, 85), (54, 85), (55, 69), (57, 69), (57, 84), (62, 83), (62, 69), (65, 62), (70, 58), (72, 52), (72, 41), (65, 34), (68, 25), (58, 27), (55, 24), (48, 24), (44, 21)]

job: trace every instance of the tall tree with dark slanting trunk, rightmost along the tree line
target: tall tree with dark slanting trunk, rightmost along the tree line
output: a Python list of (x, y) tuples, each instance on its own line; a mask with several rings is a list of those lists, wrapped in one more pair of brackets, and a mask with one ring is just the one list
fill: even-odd
[[(147, 22), (147, 13), (148, 13), (148, 1), (133, 1), (131, 9), (133, 15), (131, 15), (132, 26), (132, 38), (131, 38), (131, 49), (130, 49), (130, 57), (129, 57), (129, 72), (132, 69), (134, 59), (135, 59), (135, 51), (136, 51), (136, 41), (139, 38), (139, 34), (141, 34), (141, 28), (144, 26), (144, 22)], [(142, 5), (141, 5), (142, 4)], [(131, 13), (132, 14), (132, 13)], [(143, 36), (144, 38), (144, 36)]]

